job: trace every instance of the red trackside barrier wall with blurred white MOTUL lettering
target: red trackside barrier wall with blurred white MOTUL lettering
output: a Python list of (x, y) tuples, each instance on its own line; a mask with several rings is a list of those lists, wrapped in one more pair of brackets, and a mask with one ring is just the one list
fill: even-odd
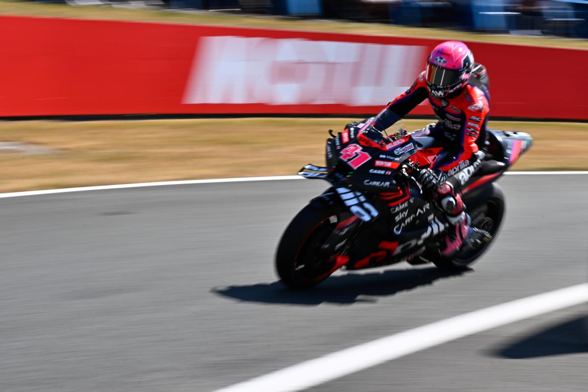
[[(13, 16), (0, 35), (0, 116), (376, 113), (439, 42)], [(467, 44), (493, 116), (588, 119), (588, 51)]]

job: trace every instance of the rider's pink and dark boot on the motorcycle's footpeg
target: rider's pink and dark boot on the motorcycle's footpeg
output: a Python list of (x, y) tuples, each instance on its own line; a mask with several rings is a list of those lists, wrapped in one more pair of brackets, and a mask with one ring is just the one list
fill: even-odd
[(492, 236), (486, 230), (470, 226), (470, 216), (465, 212), (459, 216), (447, 216), (449, 227), (445, 237), (445, 248), (441, 250), (444, 257), (451, 257), (458, 250), (473, 250), (490, 242)]

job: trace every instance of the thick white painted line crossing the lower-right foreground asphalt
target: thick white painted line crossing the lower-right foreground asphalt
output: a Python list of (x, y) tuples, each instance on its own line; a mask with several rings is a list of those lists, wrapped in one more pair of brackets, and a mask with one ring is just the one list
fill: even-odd
[(294, 392), (429, 347), (588, 301), (588, 283), (472, 311), (403, 331), (214, 392)]

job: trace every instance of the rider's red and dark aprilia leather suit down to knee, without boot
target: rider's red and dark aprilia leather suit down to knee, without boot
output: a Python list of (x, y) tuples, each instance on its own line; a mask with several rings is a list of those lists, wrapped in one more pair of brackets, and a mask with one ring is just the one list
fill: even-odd
[[(437, 193), (451, 193), (456, 196), (456, 206), (446, 209), (448, 215), (458, 215), (463, 211), (459, 197), (461, 187), (472, 177), (483, 159), (486, 141), (486, 122), (490, 110), (490, 96), (486, 69), (475, 64), (469, 83), (448, 98), (435, 98), (430, 95), (423, 71), (404, 93), (390, 102), (386, 110), (377, 118), (375, 128), (383, 130), (407, 115), (423, 100), (428, 99), (439, 120), (430, 128), (430, 135), (436, 139), (442, 151), (433, 162), (433, 169), (451, 189), (443, 187)], [(446, 179), (445, 179), (446, 176)], [(444, 209), (446, 206), (443, 206)]]

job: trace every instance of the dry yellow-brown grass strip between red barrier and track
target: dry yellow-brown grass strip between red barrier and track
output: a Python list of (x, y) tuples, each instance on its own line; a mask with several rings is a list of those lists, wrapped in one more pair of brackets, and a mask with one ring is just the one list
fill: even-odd
[[(326, 130), (352, 119), (176, 119), (1, 122), (0, 141), (62, 150), (0, 153), (0, 192), (160, 180), (292, 175), (322, 164)], [(427, 120), (407, 120), (407, 129)], [(494, 122), (529, 132), (517, 170), (588, 169), (588, 124)]]

